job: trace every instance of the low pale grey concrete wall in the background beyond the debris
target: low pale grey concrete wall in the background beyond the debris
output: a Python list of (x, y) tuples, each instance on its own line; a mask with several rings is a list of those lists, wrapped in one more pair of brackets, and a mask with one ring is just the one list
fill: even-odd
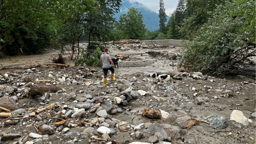
[[(173, 45), (176, 47), (182, 47), (181, 41), (182, 40), (166, 39), (166, 40), (147, 40), (142, 42), (145, 42), (146, 44), (161, 44), (161, 45)], [(189, 41), (183, 41), (183, 42), (188, 43)]]

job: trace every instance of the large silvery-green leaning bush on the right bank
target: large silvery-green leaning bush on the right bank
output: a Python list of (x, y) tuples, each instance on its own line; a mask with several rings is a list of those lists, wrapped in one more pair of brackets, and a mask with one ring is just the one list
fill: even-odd
[[(255, 27), (251, 27), (255, 25), (255, 1), (233, 0), (225, 3), (208, 12), (211, 17), (200, 27), (197, 25), (198, 29), (187, 30), (193, 41), (185, 47), (181, 66), (192, 71), (223, 73), (247, 57), (256, 56)], [(197, 16), (192, 17), (188, 21)]]

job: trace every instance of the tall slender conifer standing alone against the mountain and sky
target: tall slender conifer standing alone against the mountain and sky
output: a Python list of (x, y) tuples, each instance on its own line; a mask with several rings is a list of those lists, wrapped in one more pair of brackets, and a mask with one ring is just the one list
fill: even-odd
[(164, 8), (164, 0), (160, 0), (159, 1), (159, 18), (160, 18), (160, 32), (164, 33), (164, 27), (165, 27), (165, 22), (167, 21), (166, 17), (166, 13), (165, 13), (165, 8)]

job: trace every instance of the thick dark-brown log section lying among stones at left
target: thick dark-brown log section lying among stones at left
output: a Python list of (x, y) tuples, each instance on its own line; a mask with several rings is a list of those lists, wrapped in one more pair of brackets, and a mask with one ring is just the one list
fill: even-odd
[(40, 95), (42, 92), (58, 92), (60, 87), (55, 85), (35, 85), (31, 86), (29, 93), (31, 96)]

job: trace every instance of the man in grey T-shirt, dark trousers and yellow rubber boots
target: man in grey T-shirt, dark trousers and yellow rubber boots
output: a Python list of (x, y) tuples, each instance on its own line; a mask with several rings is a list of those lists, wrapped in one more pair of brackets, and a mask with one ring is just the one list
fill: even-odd
[(107, 74), (108, 74), (108, 70), (111, 71), (111, 81), (116, 80), (114, 78), (114, 72), (115, 69), (111, 66), (111, 64), (109, 63), (109, 61), (112, 63), (113, 67), (115, 68), (115, 65), (113, 63), (113, 61), (110, 58), (110, 55), (108, 54), (108, 49), (106, 48), (104, 50), (104, 54), (101, 55), (100, 57), (100, 63), (101, 63), (101, 67), (103, 68), (103, 72), (104, 72), (104, 85), (107, 85)]

